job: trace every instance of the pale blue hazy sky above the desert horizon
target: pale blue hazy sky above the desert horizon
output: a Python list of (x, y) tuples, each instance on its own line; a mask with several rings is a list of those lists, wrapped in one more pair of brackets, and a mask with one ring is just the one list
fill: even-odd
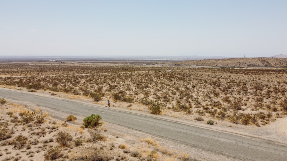
[(1, 0), (0, 55), (287, 54), (286, 0)]

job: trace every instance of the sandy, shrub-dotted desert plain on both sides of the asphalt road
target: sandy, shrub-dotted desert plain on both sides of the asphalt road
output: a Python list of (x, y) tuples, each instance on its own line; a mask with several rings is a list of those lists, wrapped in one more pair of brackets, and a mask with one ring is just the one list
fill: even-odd
[[(1, 63), (0, 85), (101, 106), (111, 100), (111, 108), (286, 143), (287, 72), (274, 60), (262, 65), (266, 61), (248, 59), (237, 67), (230, 62), (238, 60), (206, 66), (192, 61)], [(83, 117), (69, 120), (69, 115), (7, 100), (1, 104), (0, 159), (236, 160), (108, 122), (87, 128)]]

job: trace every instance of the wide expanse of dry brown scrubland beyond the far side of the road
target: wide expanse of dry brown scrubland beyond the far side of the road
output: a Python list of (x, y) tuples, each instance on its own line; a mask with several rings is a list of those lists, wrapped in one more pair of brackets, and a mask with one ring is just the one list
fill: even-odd
[[(167, 72), (168, 69), (172, 72)], [(123, 102), (119, 107), (137, 106), (137, 110), (172, 117), (184, 114), (190, 120), (225, 120), (261, 126), (287, 112), (287, 73), (274, 68), (64, 65), (55, 62), (2, 64), (1, 73), (6, 77), (2, 77), (0, 83), (18, 90), (49, 90), (52, 95), (65, 92), (93, 98), (103, 105), (110, 99)]]

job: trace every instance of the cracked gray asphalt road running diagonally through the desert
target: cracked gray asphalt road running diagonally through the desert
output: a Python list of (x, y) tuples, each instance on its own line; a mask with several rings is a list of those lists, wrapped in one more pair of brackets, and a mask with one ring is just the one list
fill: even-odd
[(0, 88), (0, 98), (24, 101), (56, 111), (69, 112), (76, 116), (99, 114), (105, 122), (165, 137), (193, 148), (234, 156), (238, 160), (287, 160), (286, 144), (198, 128), (157, 118), (154, 115), (146, 116), (51, 97)]

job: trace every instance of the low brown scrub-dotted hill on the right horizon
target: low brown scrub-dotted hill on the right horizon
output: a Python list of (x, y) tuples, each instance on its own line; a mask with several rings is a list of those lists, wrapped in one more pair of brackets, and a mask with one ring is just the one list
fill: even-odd
[(169, 65), (238, 66), (238, 67), (287, 67), (286, 58), (256, 57), (232, 59), (204, 59), (169, 63)]

